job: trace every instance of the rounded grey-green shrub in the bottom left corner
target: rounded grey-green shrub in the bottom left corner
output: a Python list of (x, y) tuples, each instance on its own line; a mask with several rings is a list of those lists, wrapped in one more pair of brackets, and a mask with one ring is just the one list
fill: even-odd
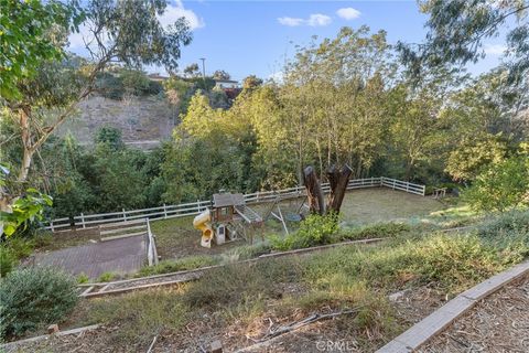
[(0, 286), (0, 334), (18, 336), (62, 320), (77, 303), (75, 278), (55, 268), (12, 271)]

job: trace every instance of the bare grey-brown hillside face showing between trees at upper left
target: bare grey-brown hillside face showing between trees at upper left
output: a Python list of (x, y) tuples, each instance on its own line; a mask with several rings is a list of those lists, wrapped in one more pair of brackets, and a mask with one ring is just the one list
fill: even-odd
[(156, 96), (122, 100), (94, 96), (80, 103), (78, 110), (61, 126), (60, 136), (71, 132), (79, 143), (91, 145), (99, 127), (112, 126), (121, 130), (127, 145), (142, 149), (169, 139), (177, 116), (175, 108)]

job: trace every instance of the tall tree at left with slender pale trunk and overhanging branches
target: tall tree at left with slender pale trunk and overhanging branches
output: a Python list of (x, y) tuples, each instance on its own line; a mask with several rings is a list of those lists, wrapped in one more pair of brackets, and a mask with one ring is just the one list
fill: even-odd
[[(33, 64), (31, 67), (35, 74), (15, 77), (13, 84), (21, 94), (2, 95), (2, 119), (11, 119), (23, 149), (17, 168), (15, 183), (19, 185), (26, 182), (35, 152), (61, 124), (76, 113), (77, 104), (95, 92), (96, 78), (110, 63), (134, 68), (143, 64), (163, 65), (168, 71), (174, 71), (182, 45), (192, 40), (184, 18), (177, 19), (172, 25), (162, 25), (160, 15), (166, 8), (163, 0), (91, 0), (83, 7), (77, 2), (68, 2), (61, 12), (61, 21), (55, 21), (57, 15), (54, 11), (62, 3), (51, 1), (51, 8), (41, 9), (41, 15), (47, 22), (26, 17), (19, 19), (14, 10), (7, 13), (10, 23), (22, 21), (20, 25), (28, 28), (50, 24), (40, 31), (20, 32), (26, 38), (17, 39), (19, 41), (45, 43), (42, 50), (44, 54), (39, 47), (29, 51), (30, 57), (25, 60)], [(72, 11), (72, 8), (77, 11)], [(78, 19), (84, 20), (80, 28), (89, 58), (64, 58), (67, 34), (71, 33), (72, 23), (78, 24)], [(2, 40), (7, 43), (14, 41), (3, 35)], [(6, 44), (2, 43), (2, 46)], [(53, 55), (46, 54), (46, 51)], [(17, 57), (13, 56), (13, 60), (19, 60)], [(9, 200), (15, 196), (17, 193), (2, 193), (2, 204), (9, 204)]]

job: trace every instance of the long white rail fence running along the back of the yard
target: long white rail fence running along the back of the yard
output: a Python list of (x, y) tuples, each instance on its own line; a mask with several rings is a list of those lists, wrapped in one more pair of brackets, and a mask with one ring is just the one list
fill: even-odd
[[(391, 178), (366, 178), (366, 179), (354, 179), (349, 180), (347, 184), (347, 190), (354, 189), (364, 189), (364, 188), (376, 188), (376, 186), (387, 186), (393, 190), (406, 191), (412, 194), (424, 195), (425, 186), (420, 184), (414, 184), (406, 181), (400, 181)], [(322, 184), (324, 193), (330, 192), (328, 183)], [(305, 194), (304, 186), (294, 186), (284, 190), (278, 191), (263, 191), (255, 192), (250, 194), (245, 194), (245, 201), (248, 204), (251, 203), (262, 203), (274, 201), (278, 196), (281, 199), (293, 199), (300, 197)], [(196, 215), (212, 205), (210, 201), (196, 201), (190, 203), (182, 203), (177, 205), (162, 205), (159, 207), (143, 208), (143, 210), (132, 210), (126, 211), (125, 208), (121, 212), (111, 212), (111, 213), (98, 213), (98, 214), (80, 214), (73, 217), (55, 218), (50, 222), (46, 226), (46, 229), (64, 231), (69, 228), (91, 228), (96, 227), (99, 224), (105, 223), (116, 223), (116, 222), (127, 222), (139, 218), (173, 218), (173, 217), (184, 217)]]

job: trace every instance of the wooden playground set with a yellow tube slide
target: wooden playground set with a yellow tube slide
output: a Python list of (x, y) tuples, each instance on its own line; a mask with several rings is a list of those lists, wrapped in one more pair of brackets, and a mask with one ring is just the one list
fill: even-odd
[(262, 217), (248, 205), (240, 193), (213, 195), (212, 208), (206, 208), (193, 220), (193, 226), (202, 232), (201, 245), (212, 247), (244, 238), (250, 244), (253, 233), (262, 226)]

